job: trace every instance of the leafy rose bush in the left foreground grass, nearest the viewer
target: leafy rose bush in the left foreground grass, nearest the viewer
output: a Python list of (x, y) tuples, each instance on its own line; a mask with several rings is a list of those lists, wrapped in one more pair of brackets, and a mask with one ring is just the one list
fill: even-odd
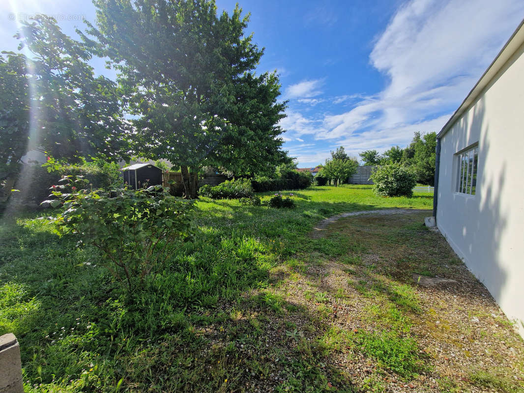
[(56, 199), (42, 203), (63, 211), (50, 220), (59, 235), (99, 248), (100, 264), (128, 289), (141, 287), (166, 252), (189, 234), (192, 203), (174, 198), (161, 185), (114, 191), (81, 189), (89, 180), (64, 176), (53, 185)]

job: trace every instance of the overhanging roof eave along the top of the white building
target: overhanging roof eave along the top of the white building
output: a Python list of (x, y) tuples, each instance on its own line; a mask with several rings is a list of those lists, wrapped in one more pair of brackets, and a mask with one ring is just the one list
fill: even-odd
[(447, 123), (442, 127), (437, 138), (442, 137), (455, 122), (462, 116), (464, 112), (475, 102), (477, 97), (484, 92), (484, 89), (489, 84), (489, 82), (495, 77), (498, 71), (504, 67), (504, 64), (509, 60), (513, 53), (524, 43), (524, 20), (521, 21), (519, 27), (511, 35), (504, 48), (500, 50), (497, 54), (497, 57), (489, 65), (487, 70), (482, 75), (481, 79), (475, 84), (474, 88), (470, 91), (467, 97), (462, 102), (461, 106), (455, 111), (453, 116), (447, 121)]

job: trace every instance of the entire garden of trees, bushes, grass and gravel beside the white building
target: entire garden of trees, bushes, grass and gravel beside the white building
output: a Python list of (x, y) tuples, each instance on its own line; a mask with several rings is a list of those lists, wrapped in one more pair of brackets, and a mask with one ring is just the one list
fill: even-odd
[[(93, 4), (78, 39), (38, 14), (0, 56), (0, 335), (26, 393), (524, 388), (512, 322), (422, 224), (434, 133), (362, 152), (373, 187), (343, 147), (313, 182), (238, 5)], [(184, 198), (130, 189), (130, 160)]]

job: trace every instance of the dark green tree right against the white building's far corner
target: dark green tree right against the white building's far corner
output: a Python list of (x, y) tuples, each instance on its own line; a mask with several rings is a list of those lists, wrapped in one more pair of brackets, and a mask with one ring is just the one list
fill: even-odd
[(410, 167), (419, 183), (434, 185), (436, 133), (416, 132), (410, 145), (403, 151), (402, 163)]

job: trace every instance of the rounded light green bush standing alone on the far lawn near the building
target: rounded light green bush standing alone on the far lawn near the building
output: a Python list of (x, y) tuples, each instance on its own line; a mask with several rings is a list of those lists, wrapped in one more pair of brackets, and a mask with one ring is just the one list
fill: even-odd
[(369, 177), (379, 196), (412, 196), (417, 184), (414, 173), (399, 163), (391, 163), (375, 168)]

